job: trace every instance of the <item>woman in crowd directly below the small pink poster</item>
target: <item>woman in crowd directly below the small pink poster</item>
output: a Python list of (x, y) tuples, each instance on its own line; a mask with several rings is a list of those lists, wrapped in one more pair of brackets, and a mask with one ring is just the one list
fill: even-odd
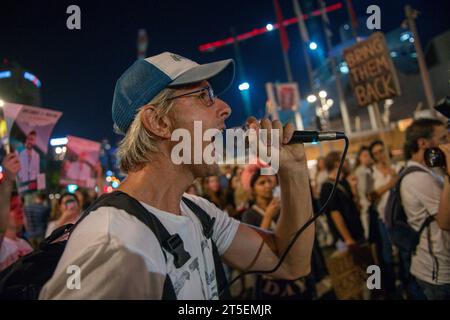
[(48, 223), (47, 232), (45, 233), (46, 237), (65, 224), (77, 222), (81, 215), (78, 199), (71, 193), (62, 194), (54, 209), (51, 221)]

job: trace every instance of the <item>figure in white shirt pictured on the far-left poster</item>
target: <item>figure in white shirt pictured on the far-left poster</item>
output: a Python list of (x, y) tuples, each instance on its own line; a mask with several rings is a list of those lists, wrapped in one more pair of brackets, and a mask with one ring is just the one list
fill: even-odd
[(19, 153), (20, 171), (18, 174), (19, 182), (28, 182), (37, 180), (40, 166), (40, 156), (33, 149), (36, 145), (36, 131), (28, 133), (25, 140), (25, 149)]

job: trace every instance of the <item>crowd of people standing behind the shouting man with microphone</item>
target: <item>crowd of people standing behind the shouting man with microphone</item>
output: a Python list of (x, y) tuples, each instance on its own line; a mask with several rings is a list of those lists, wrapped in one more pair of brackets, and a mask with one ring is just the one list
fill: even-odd
[[(235, 297), (320, 298), (317, 284), (327, 275), (324, 261), (330, 252), (351, 252), (371, 243), (376, 247), (377, 261), (381, 265), (382, 298), (449, 299), (450, 146), (447, 142), (448, 131), (443, 123), (422, 119), (416, 120), (406, 131), (403, 161), (393, 163), (383, 141), (361, 146), (354, 158), (346, 159), (336, 193), (325, 215), (317, 220), (311, 275), (297, 281), (245, 277), (237, 285), (239, 290), (233, 291)], [(425, 150), (438, 146), (447, 156), (447, 172), (425, 165)], [(333, 189), (341, 156), (340, 152), (331, 151), (310, 168), (310, 192), (316, 209), (324, 205)], [(419, 235), (415, 253), (393, 243), (389, 230), (392, 226), (386, 221), (390, 192), (399, 183), (404, 168), (411, 166), (420, 170), (405, 176), (400, 184), (407, 223), (417, 231), (427, 216), (434, 217)], [(20, 171), (18, 156), (7, 155), (2, 167), (5, 179), (0, 187), (0, 271), (39, 248), (45, 237), (58, 227), (75, 223), (97, 197), (94, 190), (61, 192), (53, 199), (38, 192), (31, 203), (24, 205), (21, 196), (13, 190)], [(262, 175), (258, 165), (226, 165), (222, 175), (198, 179), (186, 193), (201, 196), (230, 217), (261, 229), (274, 230), (281, 209), (277, 176)], [(7, 198), (10, 201), (3, 201)], [(238, 274), (232, 268), (226, 268), (226, 273), (228, 278)]]

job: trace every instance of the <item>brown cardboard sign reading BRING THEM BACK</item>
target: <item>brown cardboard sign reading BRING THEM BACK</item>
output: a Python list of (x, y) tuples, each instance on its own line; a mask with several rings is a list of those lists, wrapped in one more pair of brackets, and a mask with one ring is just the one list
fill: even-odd
[(397, 73), (384, 35), (376, 32), (367, 40), (344, 50), (350, 86), (359, 106), (401, 94)]

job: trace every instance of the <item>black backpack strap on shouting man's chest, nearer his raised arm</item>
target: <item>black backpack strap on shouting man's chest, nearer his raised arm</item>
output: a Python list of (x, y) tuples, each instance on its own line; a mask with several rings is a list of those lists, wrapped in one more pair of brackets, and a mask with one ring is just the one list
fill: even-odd
[(223, 294), (219, 296), (220, 299), (231, 299), (231, 293), (228, 288), (228, 280), (225, 275), (225, 270), (223, 269), (222, 260), (220, 259), (219, 250), (217, 249), (214, 240), (212, 239), (212, 234), (214, 230), (214, 222), (215, 218), (211, 218), (209, 214), (205, 212), (201, 207), (199, 207), (192, 200), (183, 197), (183, 202), (191, 209), (191, 211), (196, 215), (196, 217), (200, 220), (203, 227), (203, 234), (207, 239), (211, 239), (212, 244), (212, 253), (214, 259), (214, 268), (216, 273), (216, 282), (218, 287), (219, 294), (223, 291)]

